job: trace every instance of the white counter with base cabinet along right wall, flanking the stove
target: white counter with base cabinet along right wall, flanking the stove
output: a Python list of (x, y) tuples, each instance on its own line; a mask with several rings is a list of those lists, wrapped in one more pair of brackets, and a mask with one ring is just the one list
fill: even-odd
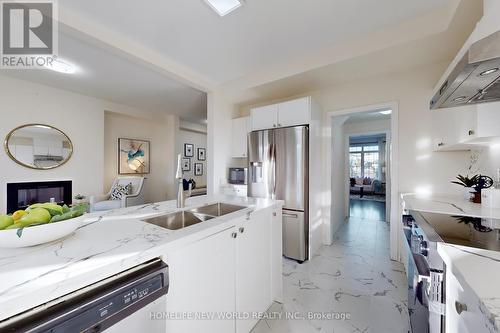
[[(499, 209), (483, 207), (453, 195), (402, 194), (401, 199), (404, 212), (474, 217), (499, 234)], [(438, 242), (437, 252), (446, 264), (447, 332), (499, 332), (500, 252), (448, 242)]]

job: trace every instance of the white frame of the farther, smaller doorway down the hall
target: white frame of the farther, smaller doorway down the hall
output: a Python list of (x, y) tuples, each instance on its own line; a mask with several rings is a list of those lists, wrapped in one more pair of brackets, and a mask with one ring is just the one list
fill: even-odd
[[(344, 169), (344, 175), (347, 177), (346, 179), (349, 178), (349, 140), (351, 137), (353, 136), (362, 136), (362, 135), (377, 135), (377, 134), (385, 134), (385, 140), (386, 142), (388, 143), (388, 145), (386, 146), (386, 152), (385, 152), (385, 162), (388, 163), (390, 161), (390, 156), (387, 152), (390, 151), (390, 147), (391, 147), (391, 142), (392, 142), (392, 135), (391, 135), (391, 130), (382, 130), (382, 131), (367, 131), (367, 132), (356, 132), (356, 133), (347, 133), (345, 135), (345, 144), (344, 144), (344, 149), (345, 149), (345, 169)], [(390, 217), (391, 217), (391, 200), (388, 200), (388, 198), (391, 197), (391, 183), (392, 183), (392, 179), (391, 179), (391, 176), (392, 176), (392, 173), (391, 173), (391, 165), (390, 163), (388, 163), (389, 167), (387, 168), (389, 170), (389, 172), (386, 172), (387, 174), (389, 174), (389, 177), (386, 177), (386, 192), (385, 192), (385, 200), (386, 200), (386, 207), (385, 207), (385, 220), (386, 222), (390, 222)], [(351, 192), (351, 189), (350, 189), (350, 186), (348, 183), (346, 183), (346, 188), (345, 188), (345, 207), (346, 207), (346, 212), (347, 212), (347, 216), (346, 217), (349, 217), (349, 202), (350, 202), (350, 192)]]

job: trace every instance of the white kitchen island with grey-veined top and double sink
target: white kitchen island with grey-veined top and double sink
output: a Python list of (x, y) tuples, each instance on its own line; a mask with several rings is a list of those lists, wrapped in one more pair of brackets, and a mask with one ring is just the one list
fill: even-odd
[[(179, 230), (169, 230), (143, 221), (151, 217), (216, 202), (240, 205), (244, 208)], [(186, 208), (178, 209), (175, 201), (167, 201), (102, 214), (88, 214), (85, 216), (83, 225), (74, 234), (62, 240), (35, 247), (2, 249), (0, 252), (0, 281), (2, 281), (0, 284), (0, 320), (34, 307), (43, 307), (49, 301), (154, 258), (161, 258), (169, 265), (171, 281), (169, 295), (167, 295), (168, 311), (202, 311), (205, 309), (232, 312), (237, 309), (266, 311), (273, 300), (281, 298), (282, 202), (214, 196), (190, 198), (186, 206)], [(264, 229), (255, 230), (254, 228)], [(218, 238), (212, 238), (214, 235)], [(217, 239), (224, 241), (217, 241)], [(222, 250), (219, 253), (214, 252), (214, 255), (228, 252), (226, 259), (229, 261), (234, 259), (231, 264), (233, 266), (217, 265), (220, 258), (215, 257), (212, 258), (212, 265), (208, 268), (207, 263), (200, 262), (199, 259), (212, 256), (213, 244), (207, 240), (214, 240)], [(229, 242), (226, 243), (226, 240)], [(189, 251), (196, 249), (194, 244), (202, 252), (193, 253), (190, 257)], [(226, 248), (223, 246), (226, 245), (224, 244), (228, 247), (237, 246), (238, 251), (225, 251)], [(262, 250), (259, 252), (258, 249), (261, 248), (266, 252)], [(253, 251), (254, 249), (257, 250)], [(248, 262), (243, 263), (243, 260)], [(252, 265), (259, 262), (265, 264), (260, 266), (257, 264), (253, 268), (263, 267), (266, 271), (262, 272), (261, 277), (269, 282), (269, 293), (258, 300), (260, 303), (251, 298), (245, 298), (243, 294), (243, 292), (254, 292), (254, 290), (245, 291), (245, 284), (255, 287), (252, 281), (245, 280), (246, 264)], [(205, 272), (205, 277), (197, 275), (199, 267), (209, 269)], [(254, 273), (259, 275), (258, 271)], [(226, 293), (218, 294), (220, 290), (214, 289), (216, 294), (212, 295), (214, 296), (212, 299), (195, 299), (197, 292), (200, 291), (198, 286), (203, 286), (208, 282), (217, 284), (217, 279), (230, 281), (235, 275), (238, 278), (236, 282), (233, 281), (235, 290), (231, 290), (229, 284), (226, 285), (229, 296), (226, 296)], [(208, 278), (209, 276), (211, 279)], [(193, 277), (203, 282), (196, 280), (198, 284), (192, 284), (190, 290), (186, 291), (183, 281), (187, 283)], [(242, 290), (236, 290), (237, 286)], [(235, 304), (236, 292), (240, 298), (236, 298)], [(221, 302), (231, 297), (233, 303), (221, 305)], [(183, 302), (190, 300), (193, 302), (189, 302), (186, 308)], [(201, 306), (193, 306), (200, 303)], [(263, 306), (264, 303), (265, 306)], [(258, 309), (255, 308), (257, 304)], [(234, 325), (229, 325), (229, 322), (229, 320), (220, 322), (215, 320), (211, 323), (204, 323), (204, 331), (232, 332)], [(247, 329), (252, 323), (253, 321), (247, 321), (242, 329)], [(194, 323), (172, 321), (170, 332), (179, 331), (182, 325), (196, 325), (196, 321)], [(214, 327), (214, 330), (210, 329), (210, 325)], [(227, 330), (228, 327), (232, 329)]]

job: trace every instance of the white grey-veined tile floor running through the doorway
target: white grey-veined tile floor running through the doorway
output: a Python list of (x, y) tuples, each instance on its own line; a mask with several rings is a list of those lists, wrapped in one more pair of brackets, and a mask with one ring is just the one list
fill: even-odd
[(350, 218), (310, 261), (284, 259), (283, 279), (284, 303), (252, 333), (409, 332), (406, 275), (389, 259), (386, 222)]

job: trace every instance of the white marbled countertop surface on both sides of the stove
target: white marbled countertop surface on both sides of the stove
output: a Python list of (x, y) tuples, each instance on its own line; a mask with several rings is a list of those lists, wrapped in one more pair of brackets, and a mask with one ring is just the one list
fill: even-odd
[[(437, 214), (472, 216), (487, 220), (500, 219), (500, 209), (486, 208), (466, 201), (461, 196), (428, 197), (402, 194), (406, 210)], [(500, 252), (438, 243), (438, 253), (463, 288), (477, 296), (484, 314), (485, 326), (500, 331)]]

